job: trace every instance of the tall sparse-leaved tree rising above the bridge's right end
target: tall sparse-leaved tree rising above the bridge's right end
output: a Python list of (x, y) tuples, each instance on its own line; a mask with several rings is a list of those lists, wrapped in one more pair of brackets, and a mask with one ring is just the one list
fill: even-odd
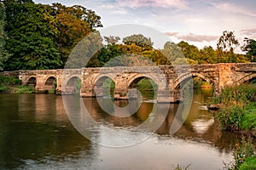
[(234, 35), (234, 31), (223, 31), (217, 42), (218, 62), (236, 62), (234, 49), (239, 46), (239, 42)]

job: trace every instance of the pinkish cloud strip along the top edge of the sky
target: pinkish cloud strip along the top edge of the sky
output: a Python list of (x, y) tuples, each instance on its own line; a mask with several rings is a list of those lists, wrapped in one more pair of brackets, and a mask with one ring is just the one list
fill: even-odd
[(188, 3), (184, 0), (123, 0), (118, 1), (120, 7), (145, 8), (145, 7), (162, 7), (162, 8), (189, 8)]

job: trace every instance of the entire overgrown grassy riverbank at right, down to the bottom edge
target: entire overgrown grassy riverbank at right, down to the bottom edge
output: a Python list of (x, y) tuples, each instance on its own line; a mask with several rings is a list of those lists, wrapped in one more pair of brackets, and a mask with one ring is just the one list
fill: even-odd
[(221, 129), (244, 135), (233, 150), (235, 161), (224, 164), (224, 169), (256, 169), (256, 146), (253, 144), (256, 137), (255, 96), (255, 84), (241, 84), (224, 88), (221, 94), (212, 99), (212, 105), (218, 108), (216, 117)]

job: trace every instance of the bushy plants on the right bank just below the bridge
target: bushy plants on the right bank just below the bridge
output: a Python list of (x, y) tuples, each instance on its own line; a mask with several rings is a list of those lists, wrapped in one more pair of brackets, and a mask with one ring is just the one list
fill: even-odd
[(253, 84), (241, 84), (234, 87), (226, 87), (219, 96), (214, 97), (214, 103), (222, 103), (218, 114), (218, 121), (223, 129), (241, 130), (252, 127), (255, 116), (247, 114), (253, 96), (256, 94), (256, 86)]

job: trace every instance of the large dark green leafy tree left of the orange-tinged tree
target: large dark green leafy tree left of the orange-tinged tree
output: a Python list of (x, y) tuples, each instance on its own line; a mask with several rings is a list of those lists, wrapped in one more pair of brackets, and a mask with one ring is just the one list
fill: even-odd
[(55, 69), (61, 67), (52, 8), (35, 3), (5, 3), (9, 22), (6, 48), (11, 56), (6, 70)]

